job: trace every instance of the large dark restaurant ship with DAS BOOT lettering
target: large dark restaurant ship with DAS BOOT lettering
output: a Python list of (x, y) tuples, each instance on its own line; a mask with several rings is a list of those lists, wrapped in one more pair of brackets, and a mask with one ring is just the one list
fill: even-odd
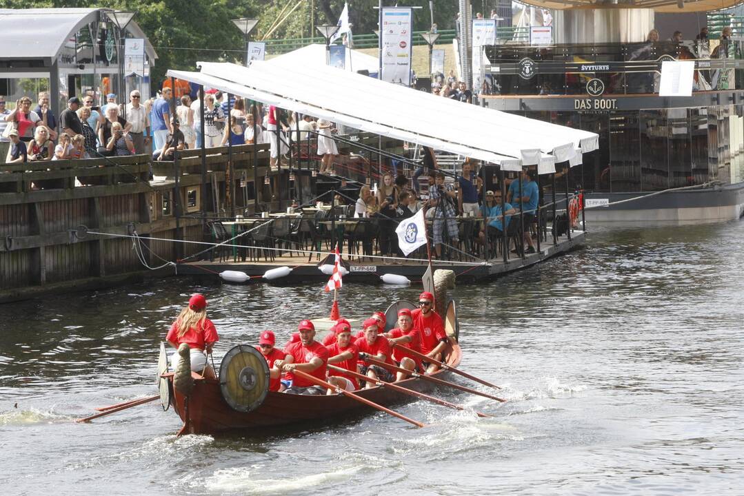
[[(535, 28), (547, 37), (485, 46), (481, 67), (493, 86), (481, 103), (599, 135), (598, 148), (568, 171), (571, 187), (586, 190), (589, 222), (661, 225), (742, 216), (742, 38), (719, 39), (734, 23), (716, 25), (708, 16), (710, 39), (696, 39), (699, 16), (707, 27), (707, 13), (739, 1), (526, 3), (554, 9), (552, 25)], [(665, 62), (673, 62), (667, 68), (694, 64), (691, 93), (663, 84)]]

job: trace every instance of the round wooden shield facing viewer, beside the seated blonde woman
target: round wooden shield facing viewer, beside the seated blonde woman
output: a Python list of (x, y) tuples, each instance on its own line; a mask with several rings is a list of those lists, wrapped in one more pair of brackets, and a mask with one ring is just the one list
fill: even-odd
[(219, 389), (233, 410), (249, 412), (260, 407), (269, 393), (269, 364), (261, 352), (239, 344), (222, 357)]

